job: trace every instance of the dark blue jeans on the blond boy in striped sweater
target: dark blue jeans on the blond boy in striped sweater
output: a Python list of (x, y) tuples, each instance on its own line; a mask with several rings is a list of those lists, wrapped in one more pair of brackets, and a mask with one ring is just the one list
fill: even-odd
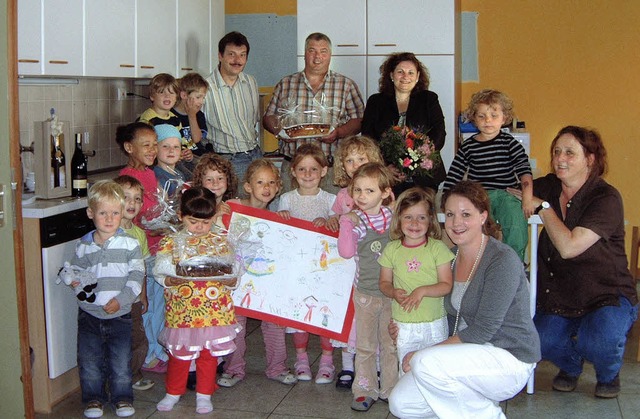
[(78, 310), (78, 369), (83, 403), (133, 403), (131, 326), (131, 313), (103, 320)]

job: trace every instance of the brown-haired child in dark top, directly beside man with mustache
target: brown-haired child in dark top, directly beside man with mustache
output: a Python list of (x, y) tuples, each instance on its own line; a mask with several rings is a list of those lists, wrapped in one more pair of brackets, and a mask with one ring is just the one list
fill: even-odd
[(192, 144), (191, 152), (196, 156), (213, 151), (213, 145), (207, 142), (207, 120), (202, 112), (209, 84), (200, 74), (188, 73), (178, 79), (178, 89), (178, 101), (171, 112), (180, 119), (182, 138)]

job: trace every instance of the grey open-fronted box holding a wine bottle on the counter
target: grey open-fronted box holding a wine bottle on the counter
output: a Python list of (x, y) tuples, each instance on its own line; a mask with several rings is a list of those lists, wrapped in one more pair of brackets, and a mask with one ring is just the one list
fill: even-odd
[(36, 174), (36, 195), (43, 199), (63, 198), (71, 196), (71, 157), (74, 150), (74, 139), (69, 132), (69, 121), (61, 121), (60, 149), (65, 155), (66, 185), (52, 188), (51, 179), (51, 148), (52, 138), (49, 121), (34, 122), (34, 165)]

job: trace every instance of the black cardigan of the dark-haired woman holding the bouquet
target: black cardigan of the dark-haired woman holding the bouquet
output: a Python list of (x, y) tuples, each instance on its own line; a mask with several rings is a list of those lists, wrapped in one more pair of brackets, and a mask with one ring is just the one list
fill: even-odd
[[(398, 125), (400, 113), (394, 96), (376, 93), (369, 97), (362, 119), (362, 134), (380, 141), (382, 134), (393, 125)], [(444, 128), (444, 114), (438, 101), (438, 95), (429, 90), (422, 90), (411, 94), (407, 108), (406, 125), (419, 128), (427, 133), (437, 150), (444, 147), (446, 131)], [(446, 178), (444, 165), (438, 166), (433, 178), (415, 179), (420, 186), (437, 189)]]

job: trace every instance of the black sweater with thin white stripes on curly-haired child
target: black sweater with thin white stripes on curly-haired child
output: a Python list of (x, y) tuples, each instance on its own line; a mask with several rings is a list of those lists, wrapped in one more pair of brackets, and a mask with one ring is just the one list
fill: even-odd
[(467, 171), (467, 180), (480, 182), (485, 189), (506, 189), (516, 187), (523, 175), (531, 175), (531, 166), (522, 144), (510, 134), (500, 132), (489, 141), (478, 141), (475, 135), (464, 141), (451, 163), (443, 189), (451, 189)]

